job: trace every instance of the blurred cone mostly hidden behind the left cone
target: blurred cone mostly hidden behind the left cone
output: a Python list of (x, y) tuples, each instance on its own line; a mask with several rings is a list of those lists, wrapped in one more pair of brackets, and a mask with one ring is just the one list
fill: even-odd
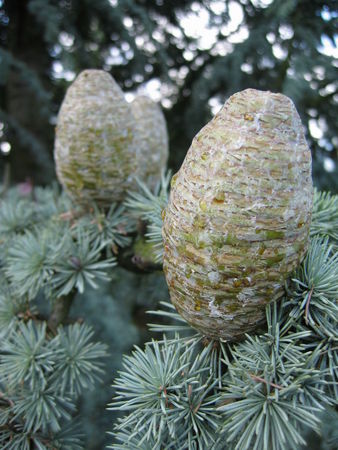
[(140, 180), (153, 188), (168, 161), (166, 121), (161, 108), (148, 97), (136, 97), (131, 107), (139, 140), (137, 174)]

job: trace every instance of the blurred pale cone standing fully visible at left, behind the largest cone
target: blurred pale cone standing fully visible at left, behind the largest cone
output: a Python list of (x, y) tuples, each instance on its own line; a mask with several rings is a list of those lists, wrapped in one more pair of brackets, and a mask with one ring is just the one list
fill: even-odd
[(130, 105), (103, 70), (85, 70), (68, 88), (58, 116), (56, 171), (76, 201), (123, 200), (136, 170)]

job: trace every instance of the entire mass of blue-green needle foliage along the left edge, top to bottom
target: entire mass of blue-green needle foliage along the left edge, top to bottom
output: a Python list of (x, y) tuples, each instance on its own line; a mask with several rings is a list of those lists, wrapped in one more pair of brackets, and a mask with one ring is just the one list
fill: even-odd
[(82, 210), (53, 188), (1, 200), (1, 448), (83, 448), (74, 414), (104, 375), (106, 347), (87, 325), (61, 323), (77, 292), (111, 280), (130, 230), (122, 207)]

